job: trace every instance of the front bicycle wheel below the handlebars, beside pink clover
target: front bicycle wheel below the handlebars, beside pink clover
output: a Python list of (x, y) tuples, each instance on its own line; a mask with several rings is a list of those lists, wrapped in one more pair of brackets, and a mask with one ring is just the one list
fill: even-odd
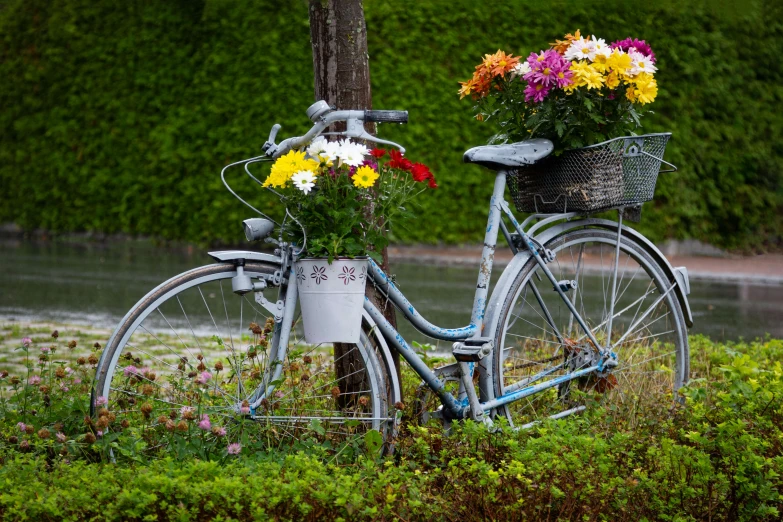
[[(247, 263), (245, 273), (278, 268)], [(257, 440), (273, 445), (304, 434), (338, 443), (370, 429), (385, 437), (390, 386), (370, 337), (335, 354), (331, 345), (298, 342), (292, 328), (280, 357), (281, 323), (253, 293), (232, 292), (235, 275), (233, 265), (205, 266), (142, 299), (105, 348), (94, 405), (161, 434), (199, 427), (230, 441), (246, 436), (239, 421), (252, 419)], [(267, 289), (267, 298), (277, 299), (277, 290)]]

